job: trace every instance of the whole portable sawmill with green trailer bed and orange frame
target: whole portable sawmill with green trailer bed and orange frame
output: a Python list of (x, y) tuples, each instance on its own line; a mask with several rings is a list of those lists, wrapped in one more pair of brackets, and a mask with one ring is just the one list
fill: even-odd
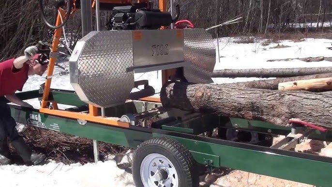
[[(41, 107), (10, 105), (17, 123), (92, 139), (96, 161), (98, 141), (136, 149), (132, 170), (137, 187), (198, 187), (200, 174), (220, 167), (331, 186), (331, 157), (293, 151), (306, 138), (332, 141), (330, 130), (164, 108), (149, 80), (135, 81), (135, 73), (161, 70), (162, 84), (213, 82), (215, 42), (205, 29), (179, 20), (179, 5), (167, 0), (159, 0), (158, 9), (149, 0), (55, 2), (54, 25), (42, 14), (53, 31), (49, 45), (39, 44), (50, 57), (45, 83), (17, 93), (23, 100), (38, 98)], [(62, 27), (76, 10), (81, 12), (83, 37), (69, 59), (74, 91), (52, 89)], [(112, 12), (107, 30), (100, 29), (101, 11)], [(177, 27), (183, 22), (187, 27)], [(132, 92), (138, 86), (143, 89)], [(73, 107), (60, 109), (58, 104)], [(286, 138), (272, 146), (274, 135)]]

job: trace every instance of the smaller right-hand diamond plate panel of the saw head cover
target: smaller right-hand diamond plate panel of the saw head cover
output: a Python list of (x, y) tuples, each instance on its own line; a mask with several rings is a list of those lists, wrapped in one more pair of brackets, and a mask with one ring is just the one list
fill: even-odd
[(205, 29), (184, 29), (184, 59), (192, 62), (184, 76), (193, 83), (212, 83), (216, 51), (211, 34)]

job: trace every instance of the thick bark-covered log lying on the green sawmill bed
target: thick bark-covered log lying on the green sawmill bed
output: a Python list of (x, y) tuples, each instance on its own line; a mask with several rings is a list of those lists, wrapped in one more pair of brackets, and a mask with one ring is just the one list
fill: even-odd
[(168, 82), (163, 107), (290, 126), (297, 118), (332, 129), (332, 95), (307, 91), (248, 89), (229, 85)]

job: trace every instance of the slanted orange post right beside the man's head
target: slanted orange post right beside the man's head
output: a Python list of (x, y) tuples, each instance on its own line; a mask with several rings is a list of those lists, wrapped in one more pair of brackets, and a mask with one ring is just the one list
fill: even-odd
[[(57, 20), (56, 20), (56, 26), (61, 24), (60, 16), (64, 15), (63, 14), (64, 11), (60, 10), (59, 13), (60, 14), (58, 14)], [(60, 40), (60, 37), (61, 37), (61, 31), (62, 31), (62, 28), (59, 28), (59, 29), (56, 29), (55, 32), (54, 32), (53, 42), (52, 42), (52, 52), (57, 52), (58, 51), (58, 45), (59, 45), (59, 40)], [(56, 57), (52, 57), (52, 55), (50, 56), (46, 76), (53, 75), (54, 65), (55, 65), (56, 60), (57, 60)], [(45, 81), (45, 87), (44, 87), (44, 93), (43, 93), (43, 97), (42, 97), (42, 106), (41, 106), (41, 108), (47, 108), (47, 100), (48, 100), (49, 91), (50, 91), (50, 87), (51, 87), (51, 80), (52, 80), (52, 78), (46, 79), (46, 81)]]

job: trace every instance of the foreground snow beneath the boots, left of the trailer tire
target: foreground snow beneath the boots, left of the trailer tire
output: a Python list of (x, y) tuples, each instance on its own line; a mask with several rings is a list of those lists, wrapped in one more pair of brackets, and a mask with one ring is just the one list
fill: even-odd
[(1, 187), (135, 187), (131, 174), (118, 169), (114, 159), (85, 165), (50, 161), (41, 166), (0, 166), (0, 176)]

